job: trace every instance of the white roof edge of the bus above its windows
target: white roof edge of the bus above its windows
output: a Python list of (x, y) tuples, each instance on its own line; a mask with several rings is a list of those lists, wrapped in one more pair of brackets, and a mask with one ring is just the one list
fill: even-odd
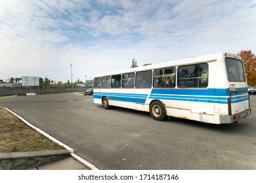
[(167, 62), (163, 62), (163, 63), (155, 63), (152, 65), (134, 67), (134, 68), (123, 69), (123, 70), (118, 70), (118, 71), (110, 71), (108, 73), (97, 74), (94, 77), (96, 78), (96, 77), (100, 77), (100, 76), (118, 75), (118, 74), (122, 74), (122, 73), (134, 73), (134, 72), (139, 72), (139, 71), (148, 71), (148, 70), (160, 69), (160, 68), (164, 68), (164, 67), (176, 67), (176, 66), (186, 65), (186, 64), (217, 61), (218, 59), (221, 59), (223, 57), (242, 60), (242, 58), (236, 54), (229, 54), (229, 53), (221, 52), (218, 54), (210, 54), (210, 55), (199, 56), (199, 57), (188, 58), (188, 59), (177, 59), (177, 60), (167, 61)]

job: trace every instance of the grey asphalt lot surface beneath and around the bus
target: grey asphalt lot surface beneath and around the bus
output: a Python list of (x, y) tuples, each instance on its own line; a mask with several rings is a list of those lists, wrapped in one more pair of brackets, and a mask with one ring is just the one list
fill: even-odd
[(253, 114), (238, 124), (158, 122), (146, 112), (104, 110), (93, 96), (59, 93), (1, 98), (7, 107), (98, 169), (256, 169)]

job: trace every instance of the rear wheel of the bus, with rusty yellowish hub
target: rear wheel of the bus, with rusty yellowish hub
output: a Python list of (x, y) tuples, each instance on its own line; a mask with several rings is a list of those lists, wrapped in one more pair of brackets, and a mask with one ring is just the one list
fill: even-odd
[(167, 116), (163, 103), (161, 103), (160, 101), (153, 101), (150, 104), (150, 115), (154, 120), (166, 120)]

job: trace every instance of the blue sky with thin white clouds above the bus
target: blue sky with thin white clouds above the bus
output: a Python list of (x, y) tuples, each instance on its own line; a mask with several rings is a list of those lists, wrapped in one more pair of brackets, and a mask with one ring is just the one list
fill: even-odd
[(256, 1), (1, 0), (0, 79), (58, 82), (217, 52), (256, 54)]

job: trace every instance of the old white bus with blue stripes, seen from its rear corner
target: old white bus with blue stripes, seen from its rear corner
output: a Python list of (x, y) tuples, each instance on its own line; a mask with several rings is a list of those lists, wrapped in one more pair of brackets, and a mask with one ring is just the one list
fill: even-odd
[(242, 58), (220, 53), (95, 75), (94, 102), (209, 124), (251, 114)]

